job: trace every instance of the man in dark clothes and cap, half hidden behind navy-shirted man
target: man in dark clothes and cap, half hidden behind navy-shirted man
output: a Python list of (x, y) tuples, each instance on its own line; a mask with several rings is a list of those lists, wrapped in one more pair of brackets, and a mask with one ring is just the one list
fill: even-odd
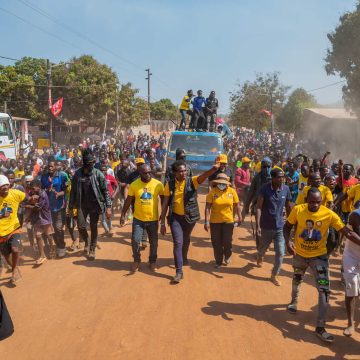
[[(241, 217), (244, 220), (245, 216), (249, 213), (249, 210), (251, 208), (251, 215), (255, 215), (256, 213), (256, 202), (257, 197), (260, 192), (261, 187), (270, 182), (271, 176), (271, 159), (268, 157), (265, 157), (261, 161), (261, 171), (255, 175), (253, 180), (251, 181), (250, 189), (248, 194), (246, 195), (246, 199), (244, 201), (244, 207), (242, 209)], [(255, 234), (255, 240), (256, 240), (256, 248), (259, 247), (259, 241), (260, 239)]]

